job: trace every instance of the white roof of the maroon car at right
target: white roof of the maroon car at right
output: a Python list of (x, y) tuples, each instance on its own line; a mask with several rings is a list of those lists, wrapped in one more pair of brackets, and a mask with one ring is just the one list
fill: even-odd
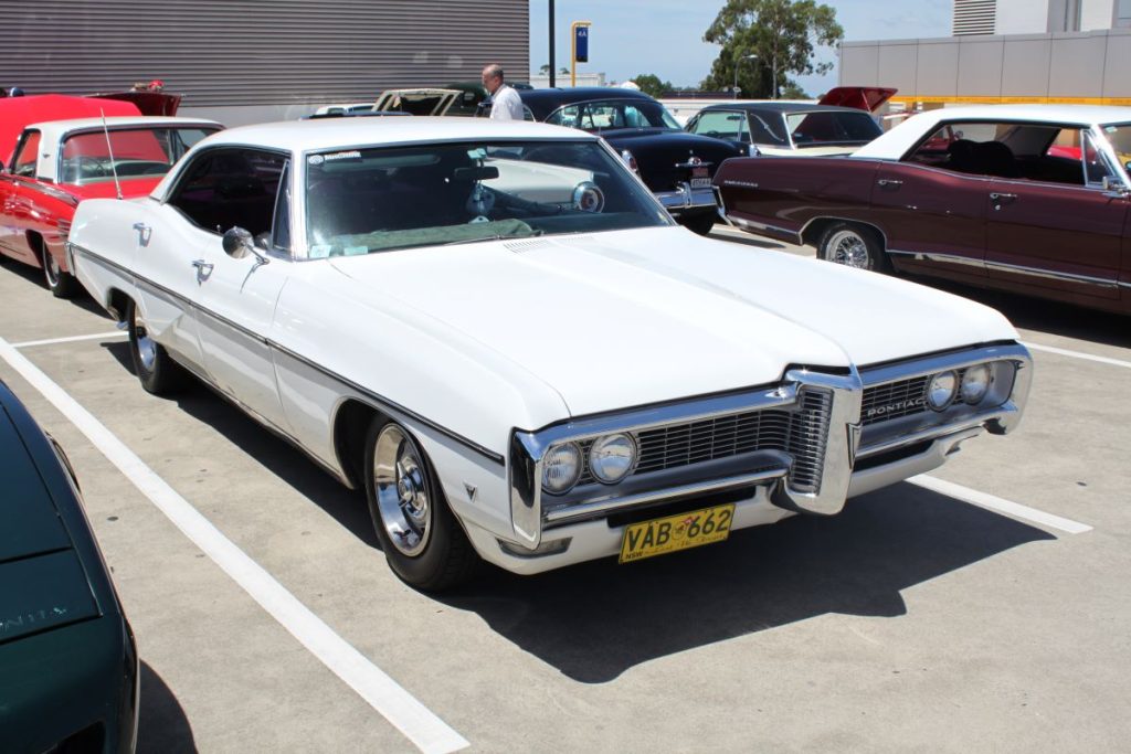
[(1002, 121), (1048, 124), (1093, 125), (1131, 123), (1131, 107), (1110, 105), (969, 105), (929, 110), (895, 127), (861, 147), (853, 157), (899, 159), (927, 133), (953, 121)]

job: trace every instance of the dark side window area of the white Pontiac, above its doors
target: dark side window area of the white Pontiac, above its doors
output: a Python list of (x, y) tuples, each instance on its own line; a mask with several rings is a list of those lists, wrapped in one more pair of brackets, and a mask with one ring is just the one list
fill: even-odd
[(208, 149), (185, 167), (169, 203), (213, 233), (236, 226), (253, 236), (270, 233), (286, 164), (270, 151)]

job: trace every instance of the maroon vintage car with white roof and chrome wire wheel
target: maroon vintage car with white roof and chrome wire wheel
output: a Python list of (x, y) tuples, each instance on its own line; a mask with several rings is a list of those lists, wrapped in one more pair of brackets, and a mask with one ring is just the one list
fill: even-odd
[(1131, 313), (1131, 107), (922, 113), (849, 157), (729, 159), (739, 227), (829, 261)]

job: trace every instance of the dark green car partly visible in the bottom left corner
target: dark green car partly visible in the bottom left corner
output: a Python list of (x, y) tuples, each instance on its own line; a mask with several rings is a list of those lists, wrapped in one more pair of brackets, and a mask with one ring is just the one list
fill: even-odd
[(0, 382), (0, 749), (131, 752), (133, 633), (59, 445)]

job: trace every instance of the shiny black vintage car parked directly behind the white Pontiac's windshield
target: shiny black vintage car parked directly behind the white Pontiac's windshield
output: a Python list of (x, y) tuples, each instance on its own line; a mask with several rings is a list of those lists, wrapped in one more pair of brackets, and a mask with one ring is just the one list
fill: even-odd
[(659, 102), (610, 87), (519, 90), (533, 119), (599, 133), (676, 220), (706, 235), (718, 219), (715, 170), (744, 154), (733, 144), (687, 133)]

